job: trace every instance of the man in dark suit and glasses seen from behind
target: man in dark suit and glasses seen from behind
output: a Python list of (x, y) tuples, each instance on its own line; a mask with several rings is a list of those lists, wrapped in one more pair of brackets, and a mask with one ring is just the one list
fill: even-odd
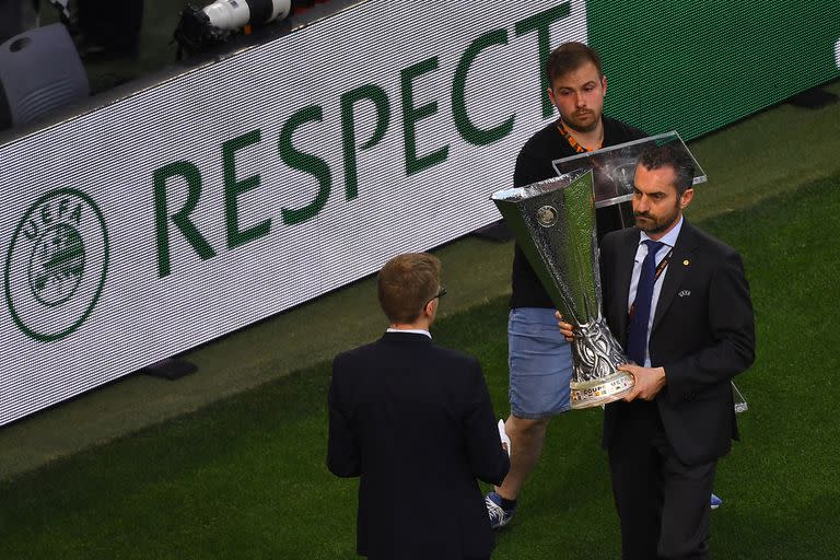
[[(339, 354), (329, 388), (327, 465), (361, 477), (357, 548), (371, 560), (489, 559), (493, 535), (476, 478), (510, 466), (475, 358), (432, 342), (440, 261), (400, 255), (378, 273), (390, 328)], [(432, 481), (434, 491), (412, 488)]]

